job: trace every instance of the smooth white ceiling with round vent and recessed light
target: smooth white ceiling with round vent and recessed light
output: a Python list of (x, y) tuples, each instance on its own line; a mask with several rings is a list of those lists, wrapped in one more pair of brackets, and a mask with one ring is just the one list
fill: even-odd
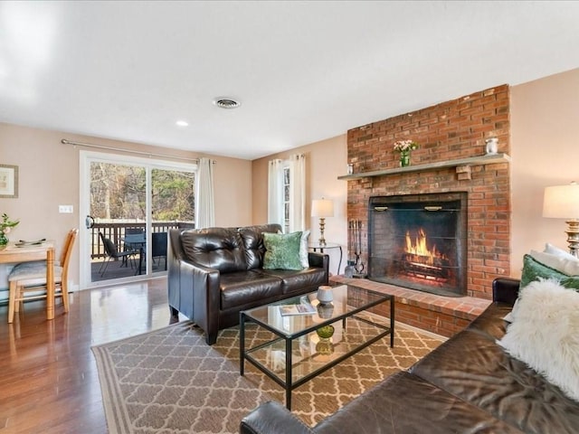
[(577, 67), (570, 1), (0, 3), (0, 121), (217, 156)]

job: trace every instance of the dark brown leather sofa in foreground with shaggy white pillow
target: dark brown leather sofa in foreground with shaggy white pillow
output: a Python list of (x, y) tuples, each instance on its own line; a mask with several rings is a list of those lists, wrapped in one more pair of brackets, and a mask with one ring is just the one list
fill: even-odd
[(395, 373), (313, 428), (279, 402), (242, 420), (243, 434), (579, 432), (579, 403), (497, 343), (519, 281), (493, 282), (493, 304), (407, 372)]

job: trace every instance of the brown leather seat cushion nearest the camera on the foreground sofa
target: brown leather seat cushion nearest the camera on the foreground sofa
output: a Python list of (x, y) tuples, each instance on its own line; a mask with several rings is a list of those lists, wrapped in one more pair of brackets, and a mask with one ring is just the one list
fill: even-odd
[(394, 373), (315, 427), (322, 433), (520, 433), (412, 373)]

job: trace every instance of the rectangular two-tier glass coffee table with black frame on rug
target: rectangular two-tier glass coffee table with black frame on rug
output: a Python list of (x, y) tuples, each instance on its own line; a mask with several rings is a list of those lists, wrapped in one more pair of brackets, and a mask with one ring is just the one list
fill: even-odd
[[(325, 305), (313, 292), (240, 313), (240, 373), (247, 360), (271, 377), (285, 389), (288, 410), (291, 391), (304, 382), (386, 335), (394, 346), (394, 296), (351, 285), (332, 293), (332, 303)], [(369, 313), (380, 305), (386, 305), (382, 311), (389, 307), (389, 322)], [(307, 307), (313, 313), (297, 312)], [(246, 336), (250, 323), (257, 326)]]

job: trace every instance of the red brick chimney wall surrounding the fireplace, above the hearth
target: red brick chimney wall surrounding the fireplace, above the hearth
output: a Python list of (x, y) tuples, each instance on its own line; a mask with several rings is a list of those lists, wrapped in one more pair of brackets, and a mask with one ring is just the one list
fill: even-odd
[[(398, 167), (396, 140), (412, 139), (419, 149), (412, 165), (425, 165), (485, 154), (485, 138), (498, 137), (498, 152), (509, 154), (508, 85), (482, 90), (459, 99), (347, 132), (348, 163), (354, 173)], [(473, 165), (471, 179), (459, 179), (454, 167), (348, 181), (348, 220), (366, 228), (370, 196), (467, 192), (467, 295), (490, 298), (491, 283), (510, 270), (510, 181), (508, 163)], [(367, 238), (362, 258), (367, 263)]]

